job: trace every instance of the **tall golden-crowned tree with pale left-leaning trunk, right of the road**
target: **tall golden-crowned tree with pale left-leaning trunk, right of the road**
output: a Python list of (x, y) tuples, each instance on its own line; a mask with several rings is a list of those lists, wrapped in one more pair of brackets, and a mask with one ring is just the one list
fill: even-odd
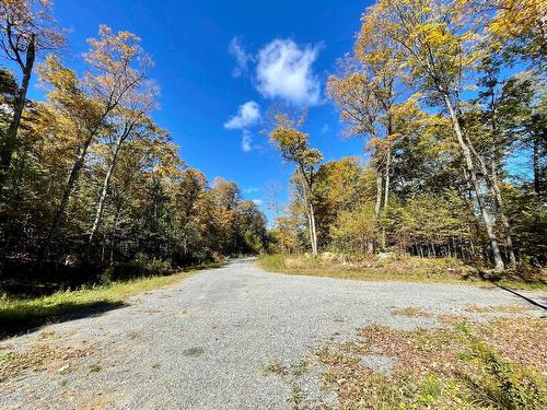
[(488, 233), (494, 269), (502, 271), (494, 220), (458, 115), (464, 74), (478, 58), (473, 48), (477, 35), (464, 17), (464, 10), (455, 1), (382, 0), (363, 16), (361, 36), (379, 48), (384, 47), (384, 39), (396, 45), (405, 56), (411, 84), (431, 104), (447, 110)]

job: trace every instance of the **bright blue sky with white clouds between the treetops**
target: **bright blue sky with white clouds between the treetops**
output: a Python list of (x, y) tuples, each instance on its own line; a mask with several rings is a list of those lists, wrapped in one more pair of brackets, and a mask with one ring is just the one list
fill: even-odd
[[(340, 137), (344, 126), (324, 87), (337, 58), (351, 51), (368, 4), (55, 0), (55, 15), (70, 30), (63, 59), (77, 70), (100, 24), (138, 34), (155, 61), (150, 77), (162, 90), (154, 118), (172, 133), (184, 161), (210, 180), (237, 181), (246, 198), (260, 200), (268, 180), (287, 187), (292, 172), (258, 132), (264, 125), (257, 110), (264, 117), (277, 99), (311, 105), (304, 130), (326, 160), (362, 153), (359, 140)], [(234, 118), (245, 103), (243, 116)]]

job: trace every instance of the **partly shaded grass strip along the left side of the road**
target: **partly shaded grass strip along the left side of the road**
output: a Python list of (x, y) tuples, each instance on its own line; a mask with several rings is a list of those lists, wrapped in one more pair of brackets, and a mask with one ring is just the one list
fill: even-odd
[(124, 306), (138, 293), (168, 286), (188, 278), (194, 271), (217, 265), (193, 267), (179, 273), (112, 282), (91, 289), (57, 292), (48, 296), (19, 298), (0, 297), (0, 338), (32, 327), (59, 321), (69, 316), (83, 317)]

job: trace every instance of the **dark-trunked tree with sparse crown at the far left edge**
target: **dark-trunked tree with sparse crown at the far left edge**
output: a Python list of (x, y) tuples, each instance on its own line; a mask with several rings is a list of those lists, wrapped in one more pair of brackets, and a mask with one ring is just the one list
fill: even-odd
[(11, 121), (0, 143), (0, 190), (18, 145), (18, 131), (36, 56), (63, 44), (65, 37), (55, 24), (49, 0), (3, 0), (0, 3), (0, 48), (22, 74), (12, 102)]

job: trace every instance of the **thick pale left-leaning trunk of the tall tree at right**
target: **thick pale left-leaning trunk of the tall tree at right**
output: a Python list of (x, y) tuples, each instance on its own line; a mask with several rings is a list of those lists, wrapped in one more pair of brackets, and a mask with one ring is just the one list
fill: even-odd
[(474, 187), (475, 194), (477, 196), (477, 202), (480, 209), (480, 213), (482, 215), (482, 221), (485, 222), (486, 230), (488, 233), (488, 238), (490, 241), (490, 248), (492, 250), (493, 255), (493, 262), (494, 262), (494, 270), (497, 272), (501, 272), (505, 269), (505, 266), (503, 265), (503, 259), (501, 257), (500, 248), (498, 246), (498, 238), (496, 237), (496, 233), (493, 232), (493, 220), (490, 215), (490, 212), (488, 212), (488, 209), (486, 207), (486, 201), (482, 196), (480, 183), (477, 178), (477, 173), (475, 171), (475, 164), (473, 163), (473, 157), (472, 157), (472, 152), (469, 150), (469, 147), (466, 144), (465, 139), (464, 139), (464, 133), (462, 131), (462, 127), (459, 125), (459, 119), (457, 118), (456, 112), (454, 110), (454, 107), (452, 106), (452, 102), (450, 99), (450, 96), (441, 91), (441, 94), (444, 98), (444, 103), (446, 105), (446, 108), (450, 112), (450, 116), (452, 119), (452, 125), (454, 127), (454, 132), (457, 138), (457, 142), (459, 144), (459, 148), (462, 150), (462, 154), (465, 160), (465, 164), (467, 167), (467, 171), (469, 172), (469, 177), (472, 185)]

